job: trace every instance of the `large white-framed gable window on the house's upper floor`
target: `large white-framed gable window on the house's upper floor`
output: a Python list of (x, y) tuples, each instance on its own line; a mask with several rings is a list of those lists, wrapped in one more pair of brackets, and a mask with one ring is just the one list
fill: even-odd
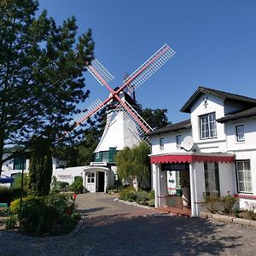
[(215, 113), (207, 113), (200, 116), (201, 140), (217, 137), (217, 125)]

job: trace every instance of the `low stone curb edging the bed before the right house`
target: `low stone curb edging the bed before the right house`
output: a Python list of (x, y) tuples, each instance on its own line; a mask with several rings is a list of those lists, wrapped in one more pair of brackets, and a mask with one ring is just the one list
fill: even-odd
[(200, 218), (208, 218), (215, 221), (227, 223), (227, 224), (239, 224), (247, 227), (256, 228), (256, 220), (251, 220), (247, 218), (235, 218), (233, 216), (213, 214), (211, 212), (200, 212)]

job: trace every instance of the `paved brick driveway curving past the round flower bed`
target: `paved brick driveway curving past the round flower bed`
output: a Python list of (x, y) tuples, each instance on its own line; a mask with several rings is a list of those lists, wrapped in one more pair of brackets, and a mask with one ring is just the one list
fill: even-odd
[(113, 201), (113, 196), (78, 197), (86, 215), (72, 237), (30, 238), (1, 231), (0, 255), (255, 255), (256, 230), (172, 217)]

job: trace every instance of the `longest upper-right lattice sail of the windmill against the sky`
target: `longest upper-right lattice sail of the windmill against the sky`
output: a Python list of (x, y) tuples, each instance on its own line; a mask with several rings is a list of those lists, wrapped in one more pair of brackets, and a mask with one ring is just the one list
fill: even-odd
[(173, 55), (175, 55), (175, 51), (165, 44), (145, 61), (141, 67), (138, 67), (134, 73), (125, 79), (124, 83), (128, 84), (131, 91), (136, 90), (156, 73)]

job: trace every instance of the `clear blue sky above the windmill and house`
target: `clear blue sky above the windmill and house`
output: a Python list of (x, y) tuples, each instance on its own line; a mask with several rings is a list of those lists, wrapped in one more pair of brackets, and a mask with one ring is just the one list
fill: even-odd
[[(203, 85), (256, 98), (254, 0), (39, 0), (58, 24), (74, 15), (79, 33), (90, 27), (96, 58), (122, 84), (163, 44), (177, 54), (137, 89), (143, 108), (167, 108), (172, 123), (188, 119), (179, 109)], [(84, 73), (90, 98), (108, 90)]]

